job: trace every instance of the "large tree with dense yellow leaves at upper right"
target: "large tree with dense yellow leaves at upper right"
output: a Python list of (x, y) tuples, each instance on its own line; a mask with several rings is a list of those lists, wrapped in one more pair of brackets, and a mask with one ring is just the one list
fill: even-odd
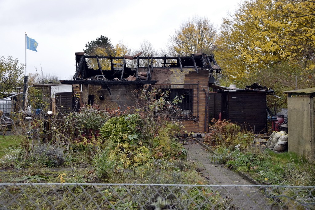
[(255, 82), (261, 71), (285, 62), (291, 66), (286, 73), (306, 81), (314, 72), (313, 8), (313, 1), (245, 1), (224, 19), (216, 42), (224, 75), (240, 84)]

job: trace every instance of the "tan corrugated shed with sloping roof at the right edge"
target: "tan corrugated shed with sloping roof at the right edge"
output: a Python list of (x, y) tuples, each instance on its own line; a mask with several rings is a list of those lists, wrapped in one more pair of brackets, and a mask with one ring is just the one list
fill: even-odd
[(315, 160), (315, 88), (288, 94), (288, 150)]

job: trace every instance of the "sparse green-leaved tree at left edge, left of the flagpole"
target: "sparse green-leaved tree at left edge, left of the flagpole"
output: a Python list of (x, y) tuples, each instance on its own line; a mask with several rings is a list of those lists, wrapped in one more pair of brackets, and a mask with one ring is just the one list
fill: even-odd
[(12, 56), (0, 57), (0, 97), (23, 89), (24, 64)]

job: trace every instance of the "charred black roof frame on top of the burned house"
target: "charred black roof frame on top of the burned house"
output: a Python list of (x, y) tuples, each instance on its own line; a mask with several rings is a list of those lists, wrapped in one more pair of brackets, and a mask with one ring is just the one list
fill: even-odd
[[(154, 69), (195, 69), (198, 70), (208, 70), (209, 73), (220, 73), (221, 68), (217, 65), (213, 54), (207, 55), (204, 53), (191, 54), (190, 56), (151, 56), (146, 57), (140, 56), (142, 52), (134, 55), (124, 55), (124, 56), (102, 56), (102, 55), (86, 55), (84, 52), (75, 53), (76, 56), (76, 72), (74, 74), (73, 80), (79, 82), (80, 84), (89, 82), (83, 82), (86, 80), (98, 81), (102, 84), (114, 84), (114, 83), (125, 83), (125, 84), (135, 84), (135, 83), (146, 83), (151, 84), (151, 73)], [(109, 69), (104, 69), (101, 66), (100, 60), (107, 59), (110, 62)], [(135, 60), (133, 67), (126, 66), (128, 60)], [(87, 60), (95, 60), (98, 69), (89, 68)], [(139, 66), (139, 61), (141, 65)], [(115, 61), (115, 63), (113, 63)], [(108, 62), (108, 63), (109, 63)], [(119, 67), (117, 67), (119, 65)], [(147, 71), (142, 72), (143, 69)], [(140, 81), (142, 80), (142, 81)], [(144, 81), (143, 81), (144, 80)], [(63, 81), (66, 82), (66, 81)], [(75, 82), (75, 84), (77, 84)], [(157, 82), (157, 81), (155, 81)], [(94, 84), (94, 82), (92, 82)], [(91, 84), (92, 84), (91, 83)], [(154, 83), (154, 82), (153, 82)]]

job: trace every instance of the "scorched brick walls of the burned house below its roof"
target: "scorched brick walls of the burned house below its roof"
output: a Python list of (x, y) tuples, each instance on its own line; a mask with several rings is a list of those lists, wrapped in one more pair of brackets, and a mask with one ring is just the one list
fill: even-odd
[[(146, 71), (146, 69), (139, 69), (139, 71)], [(184, 120), (183, 125), (187, 132), (203, 133), (208, 132), (208, 113), (206, 113), (206, 98), (208, 93), (208, 70), (199, 70), (198, 73), (195, 69), (154, 69), (152, 74), (152, 80), (157, 80), (156, 84), (198, 84), (197, 89), (194, 89), (194, 99), (199, 100), (194, 103), (194, 115), (198, 118), (195, 120)], [(101, 85), (83, 85), (82, 102), (88, 103), (88, 96), (94, 95), (94, 103), (100, 105), (103, 109), (117, 109), (121, 106), (124, 110), (127, 106), (134, 106), (134, 96), (131, 92), (136, 88), (140, 88), (136, 85), (109, 85), (112, 95), (109, 95), (106, 87)], [(205, 89), (205, 92), (203, 91)], [(103, 94), (105, 99), (100, 100), (99, 96)], [(197, 111), (198, 110), (198, 111)], [(206, 115), (206, 116), (205, 116)], [(206, 122), (205, 122), (206, 119)]]

